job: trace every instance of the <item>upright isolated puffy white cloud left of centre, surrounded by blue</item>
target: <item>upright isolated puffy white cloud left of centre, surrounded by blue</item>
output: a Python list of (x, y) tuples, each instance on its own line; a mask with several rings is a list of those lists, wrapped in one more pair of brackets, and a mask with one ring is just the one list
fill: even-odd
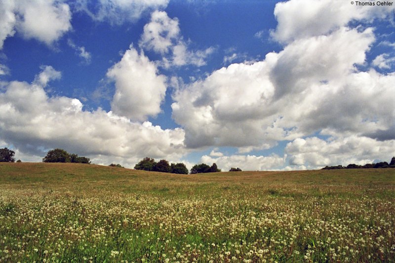
[(166, 77), (158, 75), (156, 65), (143, 52), (139, 54), (130, 46), (122, 59), (108, 70), (107, 77), (115, 81), (111, 102), (114, 113), (140, 121), (160, 113)]

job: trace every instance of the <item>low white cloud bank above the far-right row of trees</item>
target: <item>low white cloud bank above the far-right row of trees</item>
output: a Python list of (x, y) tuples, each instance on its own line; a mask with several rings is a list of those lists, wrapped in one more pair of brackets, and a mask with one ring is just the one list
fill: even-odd
[(395, 140), (377, 142), (374, 139), (352, 135), (349, 137), (317, 137), (295, 139), (285, 147), (291, 165), (320, 168), (326, 165), (363, 165), (375, 160), (389, 161), (394, 155)]

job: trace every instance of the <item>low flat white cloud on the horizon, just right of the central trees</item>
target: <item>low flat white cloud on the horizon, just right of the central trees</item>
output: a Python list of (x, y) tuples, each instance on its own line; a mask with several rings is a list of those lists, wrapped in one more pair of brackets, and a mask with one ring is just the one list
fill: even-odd
[(276, 154), (270, 156), (256, 155), (231, 155), (212, 157), (203, 155), (201, 161), (208, 165), (216, 163), (223, 172), (229, 171), (232, 167), (239, 167), (243, 171), (264, 171), (274, 170), (284, 166), (285, 158)]

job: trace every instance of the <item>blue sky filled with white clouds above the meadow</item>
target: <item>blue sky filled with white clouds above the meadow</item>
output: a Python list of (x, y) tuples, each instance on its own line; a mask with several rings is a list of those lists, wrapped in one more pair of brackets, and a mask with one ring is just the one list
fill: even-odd
[(395, 3), (369, 2), (1, 0), (0, 148), (127, 168), (389, 161)]

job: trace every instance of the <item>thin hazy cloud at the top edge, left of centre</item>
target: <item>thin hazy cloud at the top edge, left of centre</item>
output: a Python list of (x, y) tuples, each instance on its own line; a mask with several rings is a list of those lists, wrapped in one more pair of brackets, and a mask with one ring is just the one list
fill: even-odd
[[(98, 7), (91, 10), (90, 3)], [(93, 20), (108, 21), (120, 25), (125, 21), (135, 22), (144, 13), (165, 8), (169, 0), (78, 0), (79, 9), (85, 11)]]

